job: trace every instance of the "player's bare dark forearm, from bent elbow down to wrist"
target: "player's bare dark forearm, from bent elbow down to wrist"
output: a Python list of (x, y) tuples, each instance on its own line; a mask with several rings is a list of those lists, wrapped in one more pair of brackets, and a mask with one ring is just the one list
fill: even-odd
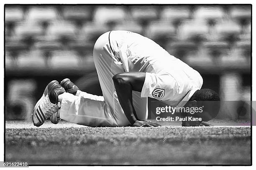
[(137, 120), (136, 111), (133, 107), (132, 86), (123, 77), (114, 76), (113, 82), (119, 103), (123, 108), (125, 116), (132, 125)]

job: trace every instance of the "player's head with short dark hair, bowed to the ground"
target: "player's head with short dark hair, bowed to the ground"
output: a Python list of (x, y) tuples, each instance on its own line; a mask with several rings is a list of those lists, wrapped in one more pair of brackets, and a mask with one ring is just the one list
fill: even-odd
[(209, 121), (218, 115), (220, 97), (211, 89), (197, 90), (186, 104), (187, 107), (202, 107), (202, 112), (195, 112), (194, 117), (202, 117), (202, 121)]

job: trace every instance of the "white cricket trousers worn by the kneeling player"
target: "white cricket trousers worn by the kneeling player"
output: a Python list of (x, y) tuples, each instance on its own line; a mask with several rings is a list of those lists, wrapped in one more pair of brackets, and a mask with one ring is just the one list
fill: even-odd
[[(79, 96), (65, 92), (61, 102), (61, 119), (91, 127), (116, 127), (130, 124), (120, 106), (112, 80), (113, 75), (125, 71), (121, 65), (114, 63), (110, 52), (106, 50), (109, 45), (108, 35), (109, 32), (101, 35), (93, 49), (93, 59), (103, 97), (86, 92), (80, 92)], [(133, 106), (138, 118), (147, 120), (147, 98), (141, 98), (140, 92), (133, 91)]]

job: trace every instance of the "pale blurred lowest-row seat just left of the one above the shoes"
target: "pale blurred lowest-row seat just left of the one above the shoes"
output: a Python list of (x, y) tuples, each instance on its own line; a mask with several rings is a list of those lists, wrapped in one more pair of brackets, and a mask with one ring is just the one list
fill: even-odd
[(21, 52), (17, 57), (17, 67), (44, 68), (45, 58), (40, 50)]

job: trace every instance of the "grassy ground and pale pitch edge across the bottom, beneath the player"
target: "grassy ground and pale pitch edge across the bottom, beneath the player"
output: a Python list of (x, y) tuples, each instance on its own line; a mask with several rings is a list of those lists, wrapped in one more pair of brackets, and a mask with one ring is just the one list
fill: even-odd
[(90, 128), (6, 122), (5, 159), (42, 164), (251, 164), (250, 126)]

